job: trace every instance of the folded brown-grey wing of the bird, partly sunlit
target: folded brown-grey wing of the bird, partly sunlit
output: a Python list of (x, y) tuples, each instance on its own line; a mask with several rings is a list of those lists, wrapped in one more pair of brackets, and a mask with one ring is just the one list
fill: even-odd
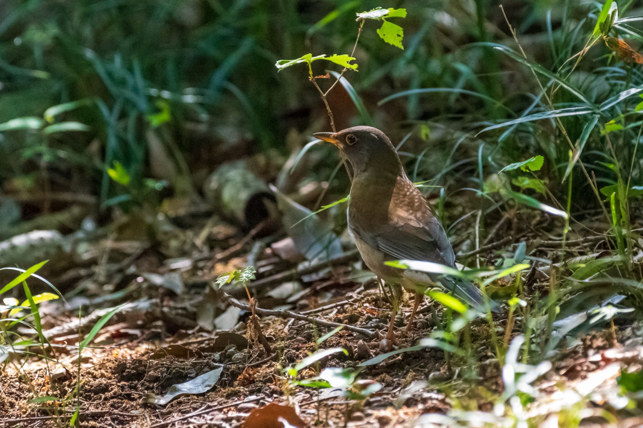
[(453, 266), (455, 254), (451, 243), (424, 196), (408, 178), (399, 178), (388, 207), (386, 222), (368, 230), (351, 219), (352, 232), (370, 246), (390, 255), (391, 259), (410, 259)]

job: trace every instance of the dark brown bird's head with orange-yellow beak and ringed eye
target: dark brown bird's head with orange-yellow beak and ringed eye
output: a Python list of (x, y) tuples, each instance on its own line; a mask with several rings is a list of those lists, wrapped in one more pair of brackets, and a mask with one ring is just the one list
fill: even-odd
[(313, 137), (332, 142), (345, 154), (358, 176), (371, 171), (399, 173), (402, 164), (385, 133), (372, 126), (353, 126), (340, 132), (318, 132)]

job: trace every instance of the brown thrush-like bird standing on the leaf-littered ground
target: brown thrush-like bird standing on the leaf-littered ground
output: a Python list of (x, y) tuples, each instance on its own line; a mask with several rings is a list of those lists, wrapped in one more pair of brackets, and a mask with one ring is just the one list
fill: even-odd
[(393, 312), (380, 343), (383, 350), (397, 344), (394, 322), (403, 289), (415, 293), (406, 332), (412, 330), (415, 312), (429, 287), (440, 286), (481, 311), (498, 310), (498, 305), (468, 280), (405, 271), (385, 264), (408, 259), (455, 268), (455, 253), (444, 227), (433, 207), (406, 176), (385, 133), (372, 126), (354, 126), (340, 132), (314, 133), (312, 137), (334, 144), (352, 167), (347, 209), (349, 232), (365, 264), (392, 291)]

